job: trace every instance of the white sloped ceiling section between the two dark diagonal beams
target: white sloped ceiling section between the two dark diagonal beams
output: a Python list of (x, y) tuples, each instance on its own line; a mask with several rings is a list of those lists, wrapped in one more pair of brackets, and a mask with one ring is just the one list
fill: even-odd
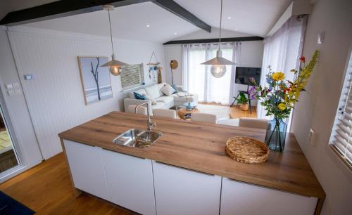
[[(165, 42), (199, 30), (198, 27), (151, 2), (115, 8), (111, 11), (111, 25), (113, 37), (151, 42)], [(33, 22), (27, 26), (109, 36), (107, 11)]]

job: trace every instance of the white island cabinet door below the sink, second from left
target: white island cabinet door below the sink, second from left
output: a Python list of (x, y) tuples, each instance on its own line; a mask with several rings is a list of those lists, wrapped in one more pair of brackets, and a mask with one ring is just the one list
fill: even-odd
[(111, 202), (140, 214), (155, 215), (151, 160), (103, 150)]

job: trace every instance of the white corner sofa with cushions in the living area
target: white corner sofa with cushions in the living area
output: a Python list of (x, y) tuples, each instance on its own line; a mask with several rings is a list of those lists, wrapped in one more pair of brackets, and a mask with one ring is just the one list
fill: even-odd
[[(177, 93), (172, 94), (171, 96), (166, 96), (161, 89), (167, 83), (161, 84), (153, 84), (151, 86), (146, 86), (143, 89), (138, 89), (137, 91), (131, 91), (128, 93), (128, 97), (124, 99), (124, 107), (125, 110), (128, 110), (128, 106), (130, 105), (139, 105), (145, 102), (148, 102), (151, 105), (151, 110), (149, 110), (149, 114), (153, 114), (153, 108), (162, 108), (162, 109), (170, 109), (175, 105), (184, 105), (185, 98), (182, 97), (187, 94), (187, 92), (182, 91), (182, 87), (177, 87)], [(151, 97), (155, 103), (152, 103), (152, 100), (139, 100), (134, 97), (134, 92), (139, 93), (141, 95), (146, 94)], [(198, 103), (198, 95), (193, 94), (192, 96), (193, 103)]]

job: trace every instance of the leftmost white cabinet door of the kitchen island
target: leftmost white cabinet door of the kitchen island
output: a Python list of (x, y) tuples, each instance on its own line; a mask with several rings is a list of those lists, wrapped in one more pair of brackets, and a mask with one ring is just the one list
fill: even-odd
[(63, 140), (75, 188), (109, 200), (101, 148)]

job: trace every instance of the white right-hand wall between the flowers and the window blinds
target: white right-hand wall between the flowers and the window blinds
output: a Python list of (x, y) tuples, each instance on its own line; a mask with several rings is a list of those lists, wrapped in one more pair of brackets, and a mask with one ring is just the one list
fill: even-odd
[[(318, 177), (327, 197), (323, 215), (352, 214), (352, 172), (328, 146), (339, 103), (344, 70), (352, 39), (352, 1), (319, 0), (308, 20), (303, 55), (320, 50), (318, 65), (294, 110), (291, 131)], [(323, 44), (317, 36), (325, 32)], [(315, 130), (310, 145), (309, 129)]]

